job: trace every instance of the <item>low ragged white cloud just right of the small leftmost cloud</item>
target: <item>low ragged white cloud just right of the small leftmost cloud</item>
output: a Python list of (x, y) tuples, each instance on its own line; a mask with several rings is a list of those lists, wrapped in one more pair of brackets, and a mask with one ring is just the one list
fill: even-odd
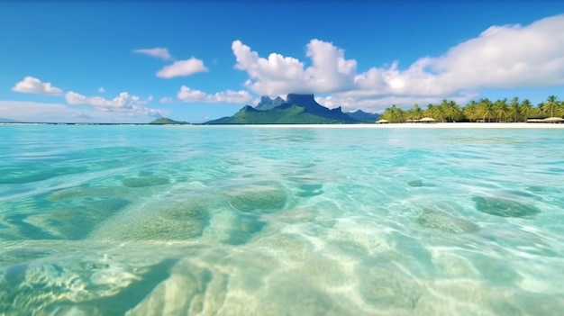
[(150, 109), (143, 106), (143, 104), (147, 104), (150, 100), (141, 100), (139, 96), (130, 95), (127, 92), (123, 92), (113, 99), (106, 99), (102, 96), (85, 96), (73, 91), (68, 91), (65, 98), (67, 99), (68, 104), (90, 105), (105, 112), (131, 112), (141, 113), (147, 116), (163, 116), (163, 113), (161, 113), (160, 110)]

